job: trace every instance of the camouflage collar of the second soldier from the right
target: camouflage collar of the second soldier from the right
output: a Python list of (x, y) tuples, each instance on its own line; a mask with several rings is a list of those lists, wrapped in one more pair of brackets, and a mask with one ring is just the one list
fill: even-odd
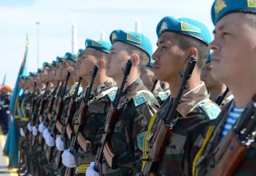
[(187, 114), (193, 109), (196, 104), (198, 104), (202, 100), (209, 99), (209, 95), (207, 93), (206, 86), (203, 82), (201, 82), (200, 86), (197, 86), (195, 89), (190, 90), (181, 97), (180, 104), (177, 107), (178, 113), (181, 116), (186, 117)]

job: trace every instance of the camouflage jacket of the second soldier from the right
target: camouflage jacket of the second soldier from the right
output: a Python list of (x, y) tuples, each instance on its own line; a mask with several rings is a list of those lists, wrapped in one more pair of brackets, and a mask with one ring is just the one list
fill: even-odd
[[(166, 116), (170, 99), (171, 97), (166, 99), (157, 112), (145, 142), (152, 143), (160, 120)], [(220, 108), (209, 99), (204, 83), (185, 94), (176, 109), (174, 116), (178, 121), (167, 140), (157, 175), (191, 175), (194, 157), (203, 144), (209, 124), (219, 113)], [(143, 151), (143, 158), (147, 158), (144, 157), (145, 152)]]

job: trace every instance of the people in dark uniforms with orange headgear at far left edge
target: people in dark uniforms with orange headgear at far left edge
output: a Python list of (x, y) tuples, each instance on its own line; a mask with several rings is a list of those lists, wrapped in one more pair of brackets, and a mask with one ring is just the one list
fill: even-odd
[(11, 125), (11, 114), (8, 110), (12, 97), (12, 88), (8, 85), (0, 87), (0, 125), (2, 133), (7, 134)]

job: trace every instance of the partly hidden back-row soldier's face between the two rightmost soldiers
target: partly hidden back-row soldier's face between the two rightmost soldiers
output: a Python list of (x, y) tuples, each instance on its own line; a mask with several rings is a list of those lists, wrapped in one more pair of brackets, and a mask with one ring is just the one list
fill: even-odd
[(206, 84), (206, 88), (208, 90), (214, 89), (215, 86), (218, 86), (220, 84), (220, 82), (217, 82), (211, 76), (211, 68), (211, 63), (206, 63), (201, 73), (201, 81), (204, 82), (204, 84)]

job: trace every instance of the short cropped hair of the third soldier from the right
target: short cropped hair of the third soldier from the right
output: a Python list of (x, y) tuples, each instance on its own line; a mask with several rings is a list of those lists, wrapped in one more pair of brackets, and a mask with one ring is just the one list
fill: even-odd
[(128, 43), (122, 43), (128, 55), (138, 55), (140, 58), (138, 69), (140, 72), (146, 67), (147, 63), (150, 62), (149, 55), (137, 46), (130, 45)]

